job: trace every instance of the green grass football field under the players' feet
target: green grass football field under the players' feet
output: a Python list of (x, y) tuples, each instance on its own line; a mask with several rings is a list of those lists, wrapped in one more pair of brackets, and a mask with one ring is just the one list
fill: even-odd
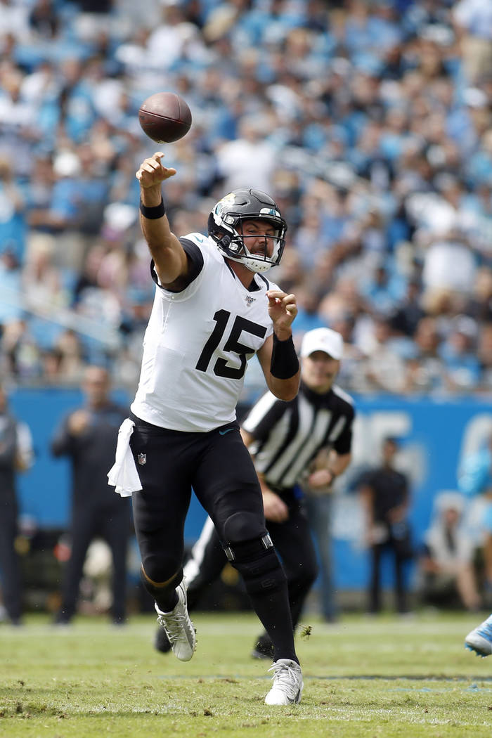
[(193, 619), (188, 663), (153, 649), (152, 615), (120, 629), (79, 618), (59, 630), (41, 615), (0, 626), (0, 737), (491, 737), (492, 657), (463, 647), (473, 616), (304, 618), (305, 688), (290, 707), (263, 704), (254, 615)]

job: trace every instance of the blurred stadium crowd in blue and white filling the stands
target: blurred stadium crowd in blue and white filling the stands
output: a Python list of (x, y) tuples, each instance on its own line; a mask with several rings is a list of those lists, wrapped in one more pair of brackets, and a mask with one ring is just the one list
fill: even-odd
[[(295, 339), (344, 336), (349, 391), (492, 389), (491, 0), (0, 0), (0, 370), (138, 379), (153, 300), (142, 101), (179, 92), (171, 224), (274, 196)], [(256, 381), (249, 374), (250, 389)]]

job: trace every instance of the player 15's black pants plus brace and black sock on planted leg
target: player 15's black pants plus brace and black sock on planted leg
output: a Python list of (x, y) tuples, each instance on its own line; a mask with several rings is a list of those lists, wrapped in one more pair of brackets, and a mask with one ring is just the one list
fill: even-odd
[(142, 483), (132, 496), (134, 525), (147, 578), (154, 583), (174, 578), (173, 586), (179, 584), (193, 488), (221, 541), (238, 553), (234, 565), (274, 644), (275, 658), (297, 659), (287, 581), (273, 548), (262, 545), (266, 527), (260, 483), (238, 424), (192, 433), (131, 417), (135, 427), (130, 445)]

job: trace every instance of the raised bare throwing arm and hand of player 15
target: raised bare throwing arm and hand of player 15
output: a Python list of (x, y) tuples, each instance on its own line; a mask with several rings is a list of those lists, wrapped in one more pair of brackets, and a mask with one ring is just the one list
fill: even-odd
[[(176, 174), (176, 169), (162, 165), (162, 156), (162, 151), (156, 151), (142, 162), (136, 172), (136, 179), (140, 184), (140, 199), (145, 208), (159, 208), (162, 202), (162, 182)], [(186, 274), (187, 256), (179, 239), (171, 231), (167, 216), (164, 213), (159, 215), (159, 210), (152, 213), (153, 217), (150, 217), (150, 213), (148, 215), (149, 217), (140, 213), (140, 227), (161, 283), (171, 284)]]

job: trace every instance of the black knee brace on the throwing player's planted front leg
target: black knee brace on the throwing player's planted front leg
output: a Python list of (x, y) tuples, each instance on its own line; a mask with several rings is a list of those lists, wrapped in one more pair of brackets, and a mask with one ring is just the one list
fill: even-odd
[(285, 573), (268, 533), (260, 539), (228, 545), (224, 551), (230, 564), (243, 576), (250, 594), (274, 592), (285, 584)]

